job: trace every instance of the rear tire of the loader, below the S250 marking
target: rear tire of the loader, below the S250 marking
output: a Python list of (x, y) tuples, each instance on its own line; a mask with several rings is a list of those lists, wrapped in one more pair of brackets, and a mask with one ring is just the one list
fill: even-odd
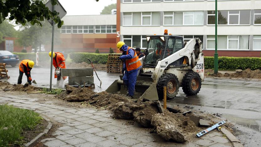
[(182, 80), (182, 90), (186, 95), (197, 95), (201, 88), (200, 75), (190, 71), (185, 74)]

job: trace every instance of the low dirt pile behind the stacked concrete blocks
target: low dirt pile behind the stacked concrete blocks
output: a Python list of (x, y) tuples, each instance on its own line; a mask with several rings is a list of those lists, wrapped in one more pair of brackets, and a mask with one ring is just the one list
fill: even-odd
[[(66, 65), (67, 68), (92, 68), (92, 64), (86, 62), (82, 63), (70, 63)], [(106, 70), (106, 64), (94, 64), (93, 67), (95, 70)]]

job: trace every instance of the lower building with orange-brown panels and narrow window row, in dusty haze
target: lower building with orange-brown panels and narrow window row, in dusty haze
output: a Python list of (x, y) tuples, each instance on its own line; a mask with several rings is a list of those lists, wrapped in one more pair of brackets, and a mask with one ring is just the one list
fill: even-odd
[(61, 44), (56, 51), (108, 53), (116, 52), (116, 15), (65, 16), (61, 28)]

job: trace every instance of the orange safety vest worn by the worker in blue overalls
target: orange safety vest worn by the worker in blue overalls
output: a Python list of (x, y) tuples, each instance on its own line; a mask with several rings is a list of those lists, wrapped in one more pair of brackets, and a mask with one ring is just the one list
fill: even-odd
[(127, 50), (127, 54), (129, 54), (129, 50), (132, 49), (134, 51), (134, 57), (131, 58), (131, 59), (126, 59), (126, 68), (127, 68), (127, 71), (131, 71), (131, 70), (134, 70), (134, 69), (137, 69), (141, 66), (141, 61), (139, 59), (139, 57), (137, 56), (135, 50), (131, 47), (128, 47), (128, 50)]

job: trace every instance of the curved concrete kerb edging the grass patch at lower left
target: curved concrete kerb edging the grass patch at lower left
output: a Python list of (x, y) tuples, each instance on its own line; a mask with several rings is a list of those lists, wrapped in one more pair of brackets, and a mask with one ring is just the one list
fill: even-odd
[(36, 143), (45, 135), (47, 134), (51, 127), (52, 127), (52, 123), (50, 121), (50, 119), (46, 118), (43, 115), (40, 115), (43, 119), (45, 119), (48, 122), (48, 125), (46, 126), (45, 130), (43, 133), (40, 133), (39, 135), (37, 135), (34, 139), (32, 139), (29, 143), (25, 144), (26, 147), (33, 147), (36, 145)]

